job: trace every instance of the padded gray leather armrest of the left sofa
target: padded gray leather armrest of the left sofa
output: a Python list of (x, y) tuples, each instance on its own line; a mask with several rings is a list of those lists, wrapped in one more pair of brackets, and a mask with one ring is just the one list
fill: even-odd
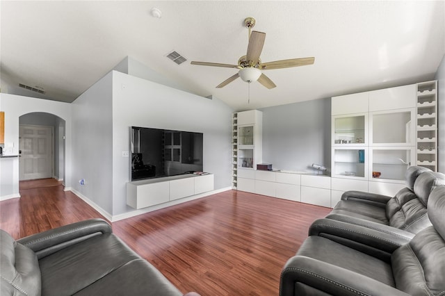
[(17, 242), (32, 249), (40, 259), (88, 238), (112, 232), (105, 220), (90, 219), (26, 236)]

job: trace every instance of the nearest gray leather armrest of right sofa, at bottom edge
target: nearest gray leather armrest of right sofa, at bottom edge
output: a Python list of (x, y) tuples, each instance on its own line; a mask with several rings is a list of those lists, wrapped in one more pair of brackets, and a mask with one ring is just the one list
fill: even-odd
[[(282, 270), (280, 296), (305, 295), (407, 296), (407, 293), (362, 274), (306, 256), (293, 256)], [(306, 293), (305, 293), (306, 292)], [(327, 293), (327, 294), (325, 294)]]

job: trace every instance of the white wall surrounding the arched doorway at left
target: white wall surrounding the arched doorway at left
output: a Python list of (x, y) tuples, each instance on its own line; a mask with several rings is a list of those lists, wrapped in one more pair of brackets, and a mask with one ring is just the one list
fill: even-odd
[[(35, 99), (32, 97), (22, 97), (15, 94), (0, 93), (0, 110), (5, 112), (5, 146), (12, 147), (10, 154), (19, 154), (19, 117), (34, 112), (54, 114), (65, 120), (65, 174), (70, 176), (72, 168), (71, 158), (71, 105), (60, 101), (49, 101), (46, 99)], [(12, 184), (8, 188), (13, 188), (14, 192), (4, 192), (0, 190), (1, 196), (19, 195), (19, 163), (15, 161), (13, 165)], [(70, 187), (70, 178), (65, 179), (65, 186)]]

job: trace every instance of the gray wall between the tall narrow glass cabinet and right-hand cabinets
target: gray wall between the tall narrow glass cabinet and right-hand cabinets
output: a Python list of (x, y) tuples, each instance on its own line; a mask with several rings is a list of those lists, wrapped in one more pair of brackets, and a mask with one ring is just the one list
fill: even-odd
[[(330, 167), (331, 99), (261, 109), (263, 161), (273, 169), (312, 172), (312, 163)], [(329, 172), (327, 172), (329, 173)]]

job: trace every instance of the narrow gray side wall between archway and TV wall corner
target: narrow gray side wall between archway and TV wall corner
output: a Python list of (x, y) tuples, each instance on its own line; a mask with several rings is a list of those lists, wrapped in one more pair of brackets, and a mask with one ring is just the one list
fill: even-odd
[[(72, 188), (113, 213), (113, 75), (72, 102)], [(79, 180), (85, 179), (81, 185)]]

